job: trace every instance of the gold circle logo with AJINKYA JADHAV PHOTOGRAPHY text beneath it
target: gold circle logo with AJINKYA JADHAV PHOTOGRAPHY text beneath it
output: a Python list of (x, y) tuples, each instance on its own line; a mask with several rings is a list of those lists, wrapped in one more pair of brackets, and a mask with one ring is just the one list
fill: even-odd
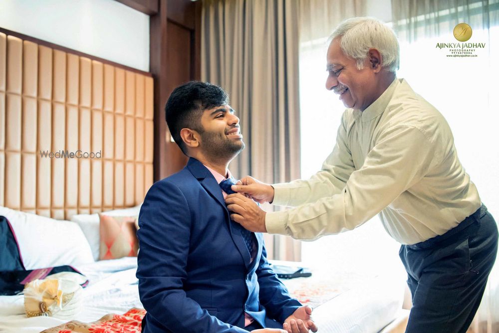
[(468, 42), (472, 34), (473, 29), (467, 23), (459, 23), (454, 27), (453, 30), (454, 38), (456, 38), (459, 43), (456, 42), (438, 42), (437, 48), (447, 50), (447, 57), (477, 57), (477, 49), (485, 48), (485, 43)]

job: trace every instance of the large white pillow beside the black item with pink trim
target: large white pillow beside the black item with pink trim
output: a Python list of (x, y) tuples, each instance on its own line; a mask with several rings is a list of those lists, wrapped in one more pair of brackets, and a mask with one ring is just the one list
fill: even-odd
[(94, 262), (85, 235), (74, 222), (0, 207), (14, 231), (26, 270)]

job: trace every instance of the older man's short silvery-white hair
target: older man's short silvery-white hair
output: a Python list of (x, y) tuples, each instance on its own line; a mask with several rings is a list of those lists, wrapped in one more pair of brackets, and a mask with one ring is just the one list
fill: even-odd
[(353, 17), (341, 22), (329, 40), (341, 38), (340, 46), (345, 55), (357, 61), (357, 68), (364, 67), (370, 48), (376, 48), (383, 57), (382, 66), (391, 72), (399, 69), (400, 50), (395, 32), (374, 17)]

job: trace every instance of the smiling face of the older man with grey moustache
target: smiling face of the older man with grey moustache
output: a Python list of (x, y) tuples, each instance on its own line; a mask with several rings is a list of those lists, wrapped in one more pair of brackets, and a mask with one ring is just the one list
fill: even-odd
[(364, 111), (376, 100), (376, 78), (369, 57), (364, 68), (356, 65), (341, 50), (340, 38), (333, 39), (327, 50), (326, 89), (337, 93), (346, 107)]

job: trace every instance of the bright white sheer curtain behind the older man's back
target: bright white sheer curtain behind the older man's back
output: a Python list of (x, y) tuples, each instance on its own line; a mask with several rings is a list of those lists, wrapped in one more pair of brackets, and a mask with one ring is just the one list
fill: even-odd
[[(399, 77), (448, 120), (461, 162), (489, 211), (499, 220), (499, 1), (392, 0), (401, 45)], [(453, 29), (468, 23), (467, 43), (485, 43), (467, 57), (447, 56), (437, 43), (457, 43)], [(451, 54), (452, 55), (452, 54)], [(470, 328), (499, 333), (499, 264)]]

